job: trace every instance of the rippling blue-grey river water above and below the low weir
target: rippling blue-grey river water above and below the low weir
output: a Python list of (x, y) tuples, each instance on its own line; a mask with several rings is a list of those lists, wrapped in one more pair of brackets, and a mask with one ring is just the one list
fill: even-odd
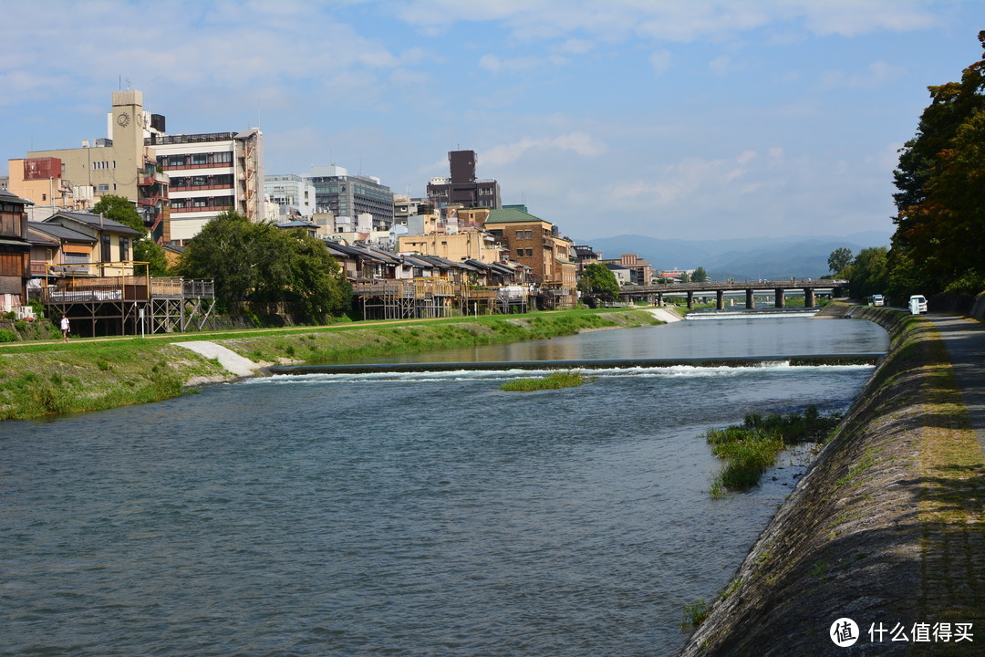
[[(795, 318), (466, 351), (886, 344), (867, 322)], [(529, 371), (278, 376), (4, 423), (0, 654), (670, 655), (683, 607), (728, 584), (803, 470), (785, 455), (752, 492), (712, 499), (704, 431), (844, 410), (871, 371), (600, 369), (535, 393), (498, 387)]]

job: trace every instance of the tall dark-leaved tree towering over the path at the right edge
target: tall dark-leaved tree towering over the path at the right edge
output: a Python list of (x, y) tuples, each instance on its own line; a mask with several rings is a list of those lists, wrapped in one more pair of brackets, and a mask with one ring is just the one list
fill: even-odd
[[(985, 47), (985, 31), (978, 33)], [(890, 292), (980, 292), (985, 284), (985, 59), (960, 82), (930, 87), (931, 104), (893, 172), (896, 231)]]

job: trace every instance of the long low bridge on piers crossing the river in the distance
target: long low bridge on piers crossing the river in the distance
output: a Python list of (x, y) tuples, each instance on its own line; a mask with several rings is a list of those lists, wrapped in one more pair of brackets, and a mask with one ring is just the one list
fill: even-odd
[(661, 283), (655, 285), (626, 286), (620, 291), (620, 297), (625, 300), (648, 300), (662, 305), (664, 296), (688, 296), (688, 308), (694, 309), (694, 296), (715, 295), (719, 310), (725, 309), (725, 296), (730, 293), (746, 294), (746, 307), (755, 308), (755, 296), (759, 294), (773, 295), (773, 306), (782, 308), (786, 305), (788, 292), (804, 294), (804, 305), (815, 307), (818, 294), (842, 296), (842, 291), (849, 285), (845, 280), (815, 280), (815, 279), (785, 279), (782, 281), (708, 281), (705, 283)]

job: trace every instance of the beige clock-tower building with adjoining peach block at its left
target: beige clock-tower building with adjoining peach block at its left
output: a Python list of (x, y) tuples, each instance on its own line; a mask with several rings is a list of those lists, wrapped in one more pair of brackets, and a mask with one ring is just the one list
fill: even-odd
[(106, 138), (10, 161), (10, 188), (31, 193), (36, 206), (51, 210), (84, 210), (106, 194), (122, 196), (136, 204), (152, 234), (165, 239), (167, 177), (157, 170), (148, 143), (164, 117), (145, 110), (143, 94), (136, 90), (113, 92), (111, 103)]

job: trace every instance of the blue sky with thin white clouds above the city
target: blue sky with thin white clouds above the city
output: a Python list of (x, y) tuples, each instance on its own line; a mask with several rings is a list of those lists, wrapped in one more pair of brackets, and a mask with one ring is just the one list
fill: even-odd
[(259, 124), (266, 173), (422, 196), (479, 153), (580, 240), (891, 231), (927, 87), (981, 59), (981, 0), (0, 0), (0, 156)]

